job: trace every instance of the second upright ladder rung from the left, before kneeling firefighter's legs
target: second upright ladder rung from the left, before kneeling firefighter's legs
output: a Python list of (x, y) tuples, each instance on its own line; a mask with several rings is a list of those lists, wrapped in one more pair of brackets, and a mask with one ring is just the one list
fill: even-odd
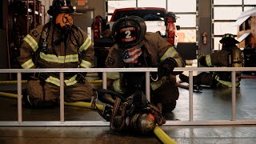
[(64, 122), (64, 73), (59, 73), (60, 80), (60, 121)]

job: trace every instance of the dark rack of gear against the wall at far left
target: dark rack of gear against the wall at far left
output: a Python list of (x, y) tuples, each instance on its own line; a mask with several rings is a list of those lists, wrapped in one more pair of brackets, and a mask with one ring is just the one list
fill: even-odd
[(45, 23), (45, 7), (39, 0), (8, 0), (7, 6), (9, 67), (20, 68), (16, 58), (19, 56), (22, 39), (34, 27)]

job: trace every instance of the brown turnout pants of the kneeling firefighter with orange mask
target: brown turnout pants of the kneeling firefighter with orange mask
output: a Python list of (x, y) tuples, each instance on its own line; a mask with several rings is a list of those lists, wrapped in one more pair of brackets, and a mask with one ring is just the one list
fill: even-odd
[[(54, 105), (59, 102), (60, 87), (50, 82), (46, 82), (42, 86), (40, 80), (30, 80), (27, 83), (27, 93), (32, 106), (37, 107), (43, 102)], [(64, 86), (65, 102), (90, 102), (92, 96), (94, 96), (94, 90), (89, 82)]]

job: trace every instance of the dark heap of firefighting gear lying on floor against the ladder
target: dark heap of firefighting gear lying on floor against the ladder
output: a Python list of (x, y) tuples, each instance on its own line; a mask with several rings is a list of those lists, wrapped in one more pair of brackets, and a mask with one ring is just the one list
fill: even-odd
[[(112, 90), (96, 91), (98, 100), (107, 104), (105, 110), (98, 110), (98, 113), (110, 122), (111, 130), (134, 130), (138, 134), (152, 134), (157, 124), (161, 126), (166, 122), (160, 110), (152, 105), (140, 90), (128, 98)], [(96, 101), (93, 102), (96, 106)]]

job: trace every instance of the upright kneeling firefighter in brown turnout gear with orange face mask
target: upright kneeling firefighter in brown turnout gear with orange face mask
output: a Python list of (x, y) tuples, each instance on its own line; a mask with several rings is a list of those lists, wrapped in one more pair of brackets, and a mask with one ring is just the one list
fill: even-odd
[[(38, 26), (23, 39), (18, 62), (24, 69), (90, 68), (94, 47), (90, 38), (73, 25), (70, 1), (54, 0), (47, 11), (53, 18)], [(65, 101), (90, 102), (94, 90), (84, 79), (86, 73), (64, 73)], [(39, 73), (30, 76), (23, 102), (32, 108), (47, 108), (59, 102), (59, 73)]]

